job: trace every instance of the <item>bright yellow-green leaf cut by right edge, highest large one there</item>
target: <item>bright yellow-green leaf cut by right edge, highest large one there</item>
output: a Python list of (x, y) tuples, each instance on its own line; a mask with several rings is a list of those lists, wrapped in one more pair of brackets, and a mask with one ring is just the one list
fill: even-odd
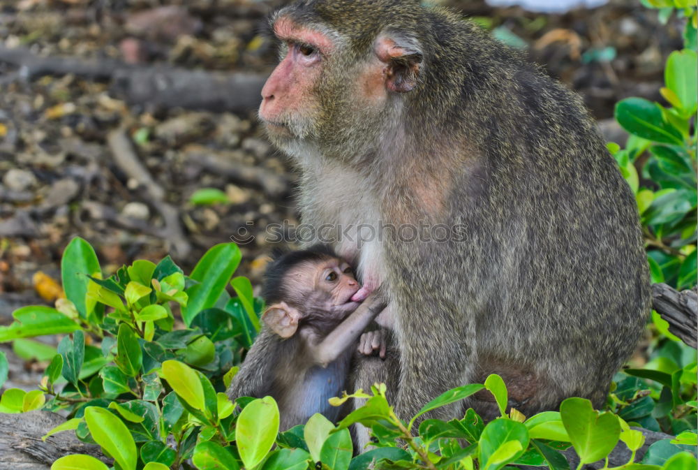
[(681, 101), (688, 114), (695, 113), (698, 102), (698, 55), (695, 50), (675, 50), (669, 54), (664, 68), (664, 82)]

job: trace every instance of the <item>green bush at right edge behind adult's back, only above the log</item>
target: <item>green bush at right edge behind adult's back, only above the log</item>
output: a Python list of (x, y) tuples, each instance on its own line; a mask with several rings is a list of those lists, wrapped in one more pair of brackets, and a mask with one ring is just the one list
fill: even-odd
[(666, 108), (644, 98), (616, 105), (616, 120), (628, 131), (625, 149), (609, 144), (635, 193), (652, 281), (678, 289), (696, 283), (696, 126), (698, 60), (696, 6), (683, 0), (649, 0), (662, 14), (678, 9), (688, 17), (685, 49), (671, 52), (660, 92)]

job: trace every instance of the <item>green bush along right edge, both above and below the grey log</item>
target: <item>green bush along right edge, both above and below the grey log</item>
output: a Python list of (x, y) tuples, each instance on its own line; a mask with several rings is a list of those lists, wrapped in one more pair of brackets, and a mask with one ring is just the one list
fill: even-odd
[[(616, 105), (616, 119), (630, 133), (621, 149), (609, 144), (635, 193), (653, 282), (679, 290), (696, 284), (696, 123), (698, 60), (695, 3), (647, 0), (660, 19), (686, 17), (685, 48), (672, 52), (660, 92), (669, 104), (627, 98)], [(671, 335), (653, 311), (649, 362), (616, 376), (609, 406), (626, 420), (670, 434), (696, 427), (696, 351)], [(645, 380), (643, 380), (645, 379)]]

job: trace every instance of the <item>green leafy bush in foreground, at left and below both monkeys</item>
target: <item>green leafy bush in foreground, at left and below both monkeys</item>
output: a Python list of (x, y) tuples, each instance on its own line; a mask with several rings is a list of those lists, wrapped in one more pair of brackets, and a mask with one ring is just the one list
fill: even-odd
[[(0, 411), (67, 411), (66, 423), (47, 436), (74, 431), (82, 441), (98, 443), (114, 459), (114, 469), (121, 470), (191, 468), (190, 462), (201, 470), (499, 470), (507, 464), (567, 469), (560, 450), (570, 446), (584, 464), (606, 457), (619, 439), (633, 453), (644, 442), (640, 432), (628, 427), (628, 422), (639, 421), (639, 410), (646, 411), (646, 399), (651, 401), (646, 394), (640, 394), (637, 402), (629, 399), (628, 390), (639, 394), (637, 383), (621, 382), (611, 395), (619, 416), (598, 413), (588, 400), (571, 398), (560, 412), (526, 418), (516, 410), (505, 413), (507, 389), (497, 375), (484, 384), (445, 392), (409, 423), (395, 416), (385, 385), (376, 384), (373, 395), (359, 390), (332, 400), (340, 405), (349, 397), (367, 399), (339, 425), (317, 414), (305, 426), (279, 433), (274, 399), (241, 397), (233, 403), (224, 393), (237, 370), (233, 365), (258, 331), (262, 307), (247, 279), (231, 280), (239, 260), (235, 244), (220, 244), (189, 276), (167, 257), (157, 265), (136, 261), (102, 279), (94, 250), (76, 238), (68, 244), (61, 264), (66, 299), (57, 302), (57, 309), (18, 309), (15, 323), (0, 328), (3, 341), (70, 336), (61, 340), (40, 390), (6, 390)], [(225, 291), (229, 283), (237, 297)], [(174, 329), (173, 308), (181, 309), (184, 328)], [(671, 404), (690, 407), (680, 394), (674, 395), (683, 369), (671, 376), (647, 370), (634, 374), (664, 384), (669, 395), (663, 389), (659, 393), (667, 395)], [(469, 409), (462, 419), (427, 419), (415, 429), (415, 420), (424, 413), (483, 389), (495, 397), (500, 418), (484, 425)], [(47, 402), (46, 395), (52, 397)], [(695, 403), (692, 406), (695, 410)], [(373, 429), (376, 448), (352, 458), (347, 428), (353, 423)], [(653, 444), (642, 469), (695, 467), (690, 451), (696, 434), (684, 428), (674, 441)], [(107, 469), (87, 455), (61, 457), (52, 466), (75, 468)]]

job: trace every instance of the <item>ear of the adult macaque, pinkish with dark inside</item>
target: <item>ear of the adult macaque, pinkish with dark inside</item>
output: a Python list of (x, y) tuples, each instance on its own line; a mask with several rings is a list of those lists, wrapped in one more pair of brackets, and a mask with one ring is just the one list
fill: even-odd
[(415, 38), (385, 32), (376, 40), (376, 55), (387, 64), (385, 87), (390, 91), (406, 93), (417, 86), (421, 68), (422, 48)]

